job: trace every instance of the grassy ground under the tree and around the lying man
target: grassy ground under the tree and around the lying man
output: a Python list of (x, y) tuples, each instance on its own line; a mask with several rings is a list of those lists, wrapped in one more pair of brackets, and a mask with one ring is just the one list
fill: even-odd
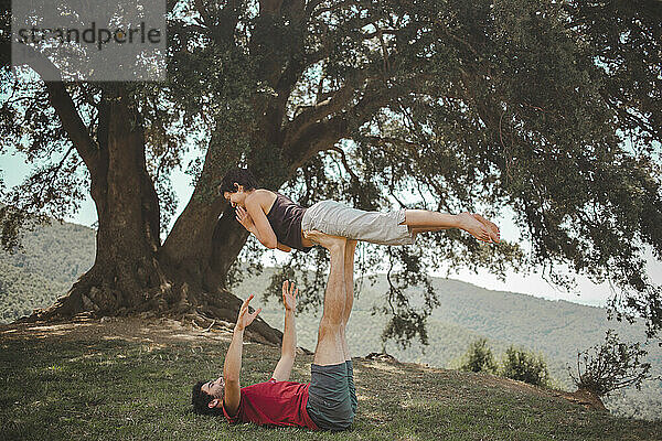
[[(517, 381), (364, 358), (350, 431), (229, 426), (190, 410), (193, 383), (220, 375), (228, 342), (172, 321), (2, 325), (0, 440), (662, 440), (661, 422)], [(242, 384), (268, 379), (278, 356), (245, 344)], [(311, 361), (298, 356), (291, 380), (308, 381)]]

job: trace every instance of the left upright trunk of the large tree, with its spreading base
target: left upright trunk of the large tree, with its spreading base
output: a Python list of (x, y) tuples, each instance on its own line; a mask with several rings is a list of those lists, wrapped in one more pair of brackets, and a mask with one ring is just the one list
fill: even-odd
[(98, 214), (95, 263), (45, 316), (89, 310), (115, 315), (166, 309), (172, 300), (156, 258), (159, 201), (147, 173), (142, 127), (126, 99), (111, 99), (99, 112), (98, 161), (90, 173)]

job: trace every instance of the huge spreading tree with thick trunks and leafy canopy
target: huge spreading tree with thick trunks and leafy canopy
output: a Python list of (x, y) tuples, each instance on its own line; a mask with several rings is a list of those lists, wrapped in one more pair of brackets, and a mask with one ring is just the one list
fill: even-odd
[[(526, 252), (458, 232), (367, 247), (360, 263), (388, 271), (386, 337), (425, 341), (437, 304), (426, 271), (442, 261), (536, 268), (562, 286), (567, 267), (611, 281), (618, 316), (662, 327), (644, 260), (647, 248), (662, 256), (659, 2), (169, 1), (164, 84), (25, 83), (9, 68), (3, 3), (0, 149), (44, 163), (7, 192), (3, 245), (85, 192), (98, 214), (94, 267), (34, 318), (234, 319), (227, 288), (247, 233), (215, 186), (243, 163), (302, 204), (513, 213)], [(169, 172), (192, 144), (195, 189), (161, 241)], [(295, 252), (284, 272), (307, 265), (319, 302), (322, 252)]]

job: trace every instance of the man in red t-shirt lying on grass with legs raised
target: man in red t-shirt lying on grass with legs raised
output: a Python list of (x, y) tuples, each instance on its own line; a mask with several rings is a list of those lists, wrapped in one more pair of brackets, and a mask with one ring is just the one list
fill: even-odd
[(223, 376), (193, 386), (192, 404), (197, 413), (224, 415), (229, 422), (267, 426), (299, 426), (313, 430), (344, 430), (354, 420), (356, 394), (345, 326), (352, 311), (355, 240), (306, 232), (306, 237), (331, 254), (331, 269), (324, 293), (324, 311), (309, 384), (289, 381), (295, 363), (297, 334), (295, 306), (298, 289), (282, 283), (285, 332), (281, 356), (266, 383), (239, 387), (244, 330), (261, 309), (248, 312), (250, 295), (242, 304), (232, 342), (225, 356)]

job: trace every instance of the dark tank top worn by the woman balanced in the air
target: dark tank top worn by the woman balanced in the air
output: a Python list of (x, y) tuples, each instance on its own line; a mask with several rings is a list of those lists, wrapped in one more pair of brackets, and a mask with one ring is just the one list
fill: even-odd
[(274, 205), (267, 213), (267, 220), (271, 224), (271, 229), (280, 244), (308, 252), (311, 247), (305, 247), (301, 244), (303, 213), (306, 213), (306, 208), (295, 204), (282, 194), (276, 193), (276, 201), (274, 201)]

